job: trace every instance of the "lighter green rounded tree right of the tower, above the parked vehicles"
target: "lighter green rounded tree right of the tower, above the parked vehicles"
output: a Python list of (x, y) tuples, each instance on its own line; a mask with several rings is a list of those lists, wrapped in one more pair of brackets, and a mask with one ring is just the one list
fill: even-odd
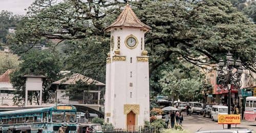
[(162, 93), (170, 100), (201, 101), (204, 75), (200, 74), (200, 68), (184, 63), (184, 68), (175, 68), (172, 71), (162, 71), (159, 85)]

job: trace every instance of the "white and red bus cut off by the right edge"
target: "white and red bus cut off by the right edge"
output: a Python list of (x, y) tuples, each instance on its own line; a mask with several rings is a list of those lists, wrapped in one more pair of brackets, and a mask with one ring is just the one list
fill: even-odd
[(244, 118), (247, 121), (256, 121), (256, 96), (246, 97)]

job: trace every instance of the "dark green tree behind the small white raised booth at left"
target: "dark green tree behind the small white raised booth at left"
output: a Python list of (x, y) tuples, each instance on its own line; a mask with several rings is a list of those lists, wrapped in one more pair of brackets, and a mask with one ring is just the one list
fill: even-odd
[[(24, 54), (19, 64), (19, 69), (11, 74), (11, 83), (15, 88), (13, 101), (22, 104), (25, 98), (26, 74), (44, 75), (42, 83), (42, 102), (47, 103), (51, 98), (53, 89), (51, 84), (59, 78), (60, 61), (57, 55), (50, 50), (31, 50)], [(37, 94), (33, 94), (36, 96)]]

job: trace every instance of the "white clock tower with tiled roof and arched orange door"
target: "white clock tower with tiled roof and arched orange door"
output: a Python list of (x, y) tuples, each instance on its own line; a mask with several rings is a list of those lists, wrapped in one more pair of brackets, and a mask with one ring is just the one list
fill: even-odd
[(151, 28), (142, 23), (129, 5), (114, 23), (111, 50), (106, 58), (105, 122), (115, 128), (143, 126), (150, 121), (148, 56), (144, 34)]

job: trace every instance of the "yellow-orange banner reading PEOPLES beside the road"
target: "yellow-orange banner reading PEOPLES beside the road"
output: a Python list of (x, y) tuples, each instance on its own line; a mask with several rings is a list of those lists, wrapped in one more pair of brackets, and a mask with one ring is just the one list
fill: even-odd
[(218, 124), (240, 124), (241, 118), (238, 115), (218, 115)]

